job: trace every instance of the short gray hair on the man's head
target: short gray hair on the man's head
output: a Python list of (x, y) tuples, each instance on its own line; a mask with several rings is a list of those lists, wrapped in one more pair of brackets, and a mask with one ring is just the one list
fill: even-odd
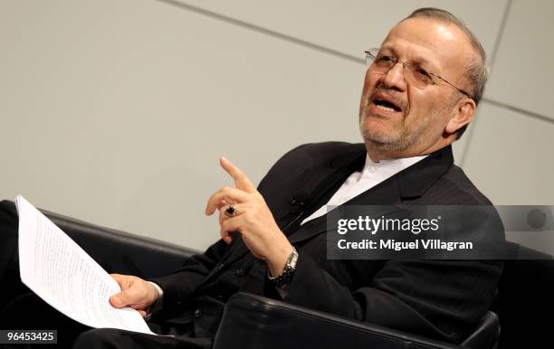
[[(412, 14), (408, 15), (403, 21), (410, 18), (430, 18), (439, 22), (444, 22), (446, 24), (454, 24), (456, 27), (460, 28), (463, 33), (467, 36), (469, 41), (472, 44), (473, 50), (476, 55), (473, 55), (470, 63), (466, 69), (466, 78), (470, 82), (469, 93), (471, 98), (475, 101), (475, 104), (478, 105), (479, 101), (482, 99), (482, 94), (484, 92), (485, 84), (489, 79), (489, 67), (486, 63), (486, 54), (482, 48), (481, 42), (477, 40), (475, 34), (463, 23), (463, 21), (456, 17), (450, 12), (435, 8), (435, 7), (423, 7), (414, 11)], [(458, 135), (456, 139), (462, 137), (463, 132), (467, 125), (458, 130)]]

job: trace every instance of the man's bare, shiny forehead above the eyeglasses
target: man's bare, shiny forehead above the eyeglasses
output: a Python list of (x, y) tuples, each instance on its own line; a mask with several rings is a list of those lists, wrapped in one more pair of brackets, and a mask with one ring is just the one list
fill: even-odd
[(472, 52), (460, 28), (430, 18), (410, 18), (396, 24), (381, 47), (395, 50), (404, 60), (429, 61), (440, 70), (463, 69)]

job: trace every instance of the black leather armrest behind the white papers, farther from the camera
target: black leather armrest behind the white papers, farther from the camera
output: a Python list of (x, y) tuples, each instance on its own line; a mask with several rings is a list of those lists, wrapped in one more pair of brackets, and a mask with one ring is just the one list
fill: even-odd
[[(17, 212), (13, 202), (3, 201), (1, 207), (16, 220)], [(101, 227), (55, 212), (40, 211), (109, 273), (130, 274), (140, 278), (165, 276), (181, 267), (187, 257), (198, 253), (169, 242)]]

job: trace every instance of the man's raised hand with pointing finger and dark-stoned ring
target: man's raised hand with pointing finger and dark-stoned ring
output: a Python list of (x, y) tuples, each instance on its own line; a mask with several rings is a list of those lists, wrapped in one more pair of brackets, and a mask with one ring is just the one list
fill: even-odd
[[(254, 257), (267, 262), (272, 276), (280, 275), (293, 249), (291, 243), (246, 174), (224, 157), (220, 164), (233, 177), (235, 188), (224, 187), (215, 192), (205, 214), (212, 215), (218, 209), (222, 239), (231, 243), (234, 232), (239, 231)], [(235, 210), (233, 216), (225, 213), (230, 205)]]

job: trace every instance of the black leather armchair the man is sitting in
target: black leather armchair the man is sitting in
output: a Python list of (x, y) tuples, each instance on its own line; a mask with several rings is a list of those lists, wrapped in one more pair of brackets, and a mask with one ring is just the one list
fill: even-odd
[[(0, 203), (0, 210), (14, 215), (14, 203)], [(166, 275), (177, 269), (195, 250), (123, 231), (81, 222), (54, 212), (43, 211), (62, 231), (86, 250), (109, 273), (128, 273), (141, 278)], [(514, 253), (534, 252), (513, 244)], [(541, 258), (544, 256), (540, 255)], [(156, 260), (156, 263), (152, 263)], [(507, 261), (501, 279), (498, 301), (471, 334), (457, 345), (411, 335), (380, 325), (362, 323), (339, 316), (297, 307), (282, 301), (251, 294), (231, 297), (215, 335), (214, 349), (229, 348), (495, 348), (512, 344), (546, 344), (548, 332), (541, 332), (535, 309), (514, 304), (519, 295), (551, 314), (554, 285), (552, 260)], [(532, 271), (530, 273), (530, 271)], [(535, 292), (521, 286), (523, 278)], [(548, 307), (545, 304), (548, 303)], [(539, 310), (541, 307), (536, 308)], [(499, 316), (496, 313), (500, 314)], [(504, 321), (504, 317), (506, 321)], [(500, 330), (502, 325), (502, 331)], [(544, 324), (546, 326), (546, 324)], [(507, 331), (506, 328), (509, 330)], [(525, 345), (527, 346), (527, 345)], [(521, 346), (520, 346), (521, 347)], [(540, 346), (534, 346), (540, 347)]]

